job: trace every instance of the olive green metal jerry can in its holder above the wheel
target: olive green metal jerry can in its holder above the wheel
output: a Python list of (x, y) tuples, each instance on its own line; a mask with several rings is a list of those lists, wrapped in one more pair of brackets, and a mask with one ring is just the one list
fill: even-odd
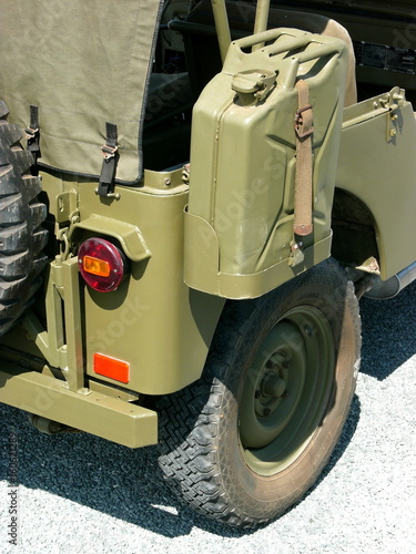
[[(346, 70), (346, 45), (329, 37), (275, 29), (232, 42), (193, 111), (190, 287), (256, 297), (329, 256)], [(296, 207), (296, 173), (305, 173), (296, 124), (306, 115), (310, 181)], [(306, 233), (294, 227), (304, 208)]]

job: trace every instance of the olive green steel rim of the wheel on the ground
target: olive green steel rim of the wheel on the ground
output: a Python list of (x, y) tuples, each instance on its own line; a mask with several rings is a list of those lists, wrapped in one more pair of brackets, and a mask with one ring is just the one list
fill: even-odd
[(239, 428), (248, 468), (272, 475), (306, 449), (326, 412), (335, 345), (317, 308), (287, 311), (256, 350), (245, 379)]

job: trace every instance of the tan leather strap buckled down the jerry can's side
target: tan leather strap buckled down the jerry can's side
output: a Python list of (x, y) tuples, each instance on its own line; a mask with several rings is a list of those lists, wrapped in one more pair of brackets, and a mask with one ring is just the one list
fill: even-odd
[(296, 184), (295, 184), (295, 235), (306, 236), (313, 232), (313, 182), (312, 134), (313, 112), (306, 81), (296, 83), (298, 109), (295, 115), (296, 131)]

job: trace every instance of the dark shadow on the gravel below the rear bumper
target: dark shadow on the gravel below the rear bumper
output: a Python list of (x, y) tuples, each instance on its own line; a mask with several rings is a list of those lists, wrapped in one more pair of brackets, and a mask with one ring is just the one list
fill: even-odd
[[(242, 533), (211, 522), (170, 493), (155, 447), (131, 450), (87, 433), (45, 435), (28, 416), (0, 404), (0, 481), (8, 480), (8, 442), (17, 435), (18, 483), (40, 489), (162, 536), (177, 537), (194, 526), (221, 536)], [(245, 533), (246, 534), (246, 533)]]

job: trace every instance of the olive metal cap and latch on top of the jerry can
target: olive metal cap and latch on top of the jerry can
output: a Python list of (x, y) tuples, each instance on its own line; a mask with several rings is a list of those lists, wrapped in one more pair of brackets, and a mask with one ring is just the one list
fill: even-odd
[(231, 88), (243, 105), (264, 100), (276, 84), (276, 73), (271, 70), (241, 71), (233, 76)]

